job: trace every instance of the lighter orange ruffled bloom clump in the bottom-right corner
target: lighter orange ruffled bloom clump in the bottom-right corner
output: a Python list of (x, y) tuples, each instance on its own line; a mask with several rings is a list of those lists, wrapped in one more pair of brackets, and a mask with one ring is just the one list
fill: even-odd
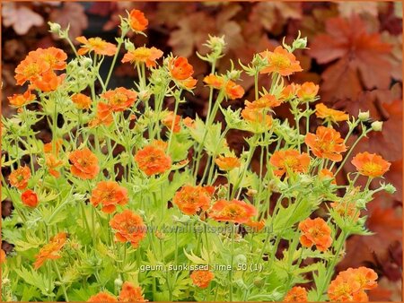
[(348, 268), (338, 273), (337, 278), (329, 284), (329, 299), (343, 302), (367, 302), (364, 290), (377, 287), (377, 273), (370, 268)]

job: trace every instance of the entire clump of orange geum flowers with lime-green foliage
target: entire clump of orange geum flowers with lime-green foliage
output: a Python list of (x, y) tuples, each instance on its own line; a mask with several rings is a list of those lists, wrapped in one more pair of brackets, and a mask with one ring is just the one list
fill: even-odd
[[(2, 228), (13, 252), (0, 251), (13, 300), (366, 301), (373, 270), (331, 279), (347, 238), (370, 234), (366, 204), (394, 192), (377, 184), (391, 163), (355, 150), (382, 123), (319, 102), (314, 82), (290, 82), (303, 70), (300, 37), (219, 74), (225, 39), (209, 36), (198, 54), (212, 65), (199, 83), (206, 117), (185, 117), (197, 69), (136, 45), (148, 26), (132, 10), (114, 43), (78, 37), (76, 49), (52, 24), (75, 57), (38, 48), (15, 69), (27, 90), (8, 98), (17, 110), (2, 120), (13, 202)], [(110, 87), (117, 63), (133, 65), (135, 85)], [(51, 140), (40, 141), (39, 121)], [(243, 134), (242, 152), (231, 131)], [(354, 171), (341, 176), (349, 162)]]

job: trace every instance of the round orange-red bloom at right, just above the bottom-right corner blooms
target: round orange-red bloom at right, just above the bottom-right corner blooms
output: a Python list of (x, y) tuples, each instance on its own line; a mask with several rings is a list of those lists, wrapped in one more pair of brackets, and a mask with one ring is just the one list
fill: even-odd
[(303, 247), (312, 247), (315, 245), (318, 250), (326, 251), (331, 246), (331, 229), (326, 221), (321, 218), (308, 218), (301, 221), (299, 229), (302, 231), (300, 243), (302, 243)]

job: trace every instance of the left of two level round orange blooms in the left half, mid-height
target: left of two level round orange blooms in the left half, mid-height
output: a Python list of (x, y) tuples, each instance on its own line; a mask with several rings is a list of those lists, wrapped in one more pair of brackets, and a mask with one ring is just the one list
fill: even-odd
[(93, 179), (100, 171), (97, 156), (88, 148), (70, 153), (69, 161), (72, 163), (70, 171), (75, 177)]

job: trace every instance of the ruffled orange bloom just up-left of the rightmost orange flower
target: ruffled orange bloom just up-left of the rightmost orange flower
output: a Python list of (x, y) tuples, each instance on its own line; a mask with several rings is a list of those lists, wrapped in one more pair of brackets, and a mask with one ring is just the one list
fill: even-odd
[(319, 126), (316, 134), (306, 134), (304, 143), (312, 149), (312, 153), (317, 157), (336, 162), (342, 160), (340, 153), (347, 151), (341, 134), (332, 127)]

